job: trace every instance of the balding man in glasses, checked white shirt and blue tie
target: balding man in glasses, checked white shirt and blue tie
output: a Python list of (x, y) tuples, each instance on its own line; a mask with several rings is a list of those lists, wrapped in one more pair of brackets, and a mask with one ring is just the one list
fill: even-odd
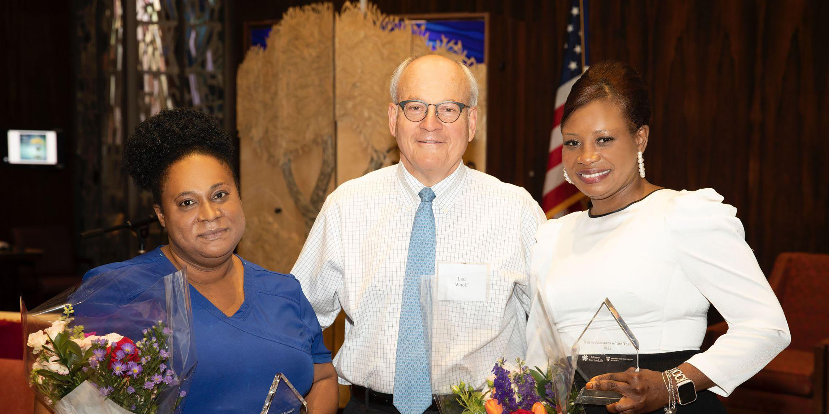
[(422, 277), (436, 275), (436, 299), (452, 310), (439, 324), (453, 335), (431, 352), (443, 378), (480, 388), (496, 359), (523, 356), (530, 246), (545, 220), (526, 190), (463, 165), (478, 121), (465, 65), (410, 57), (390, 93), (400, 163), (334, 190), (292, 271), (323, 327), (346, 312), (334, 359), (351, 384), (346, 414), (437, 412)]

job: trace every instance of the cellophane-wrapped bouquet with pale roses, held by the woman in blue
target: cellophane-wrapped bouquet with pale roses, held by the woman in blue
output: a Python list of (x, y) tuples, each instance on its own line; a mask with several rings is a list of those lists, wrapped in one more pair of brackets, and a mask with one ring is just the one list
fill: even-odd
[(102, 272), (33, 310), (21, 300), (24, 359), (56, 414), (181, 412), (196, 348), (185, 271)]

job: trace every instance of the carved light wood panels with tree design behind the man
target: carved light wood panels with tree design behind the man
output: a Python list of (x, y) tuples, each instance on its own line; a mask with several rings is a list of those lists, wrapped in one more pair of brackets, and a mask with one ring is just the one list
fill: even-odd
[(486, 160), (486, 65), (463, 45), (432, 50), (422, 27), (347, 2), (294, 7), (240, 65), (237, 125), (247, 230), (240, 253), (288, 272), (337, 185), (399, 159), (388, 128), (390, 75), (409, 55), (461, 60), (478, 78), (478, 132), (464, 161)]

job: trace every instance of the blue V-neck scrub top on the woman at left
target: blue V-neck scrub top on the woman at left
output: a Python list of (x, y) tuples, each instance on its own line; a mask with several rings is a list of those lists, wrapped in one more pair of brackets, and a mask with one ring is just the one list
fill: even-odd
[[(317, 315), (293, 275), (240, 260), (245, 267), (245, 301), (234, 315), (225, 315), (190, 286), (197, 363), (185, 414), (259, 412), (276, 373), (284, 373), (306, 395), (313, 383), (313, 364), (331, 362)], [(152, 286), (177, 271), (156, 248), (126, 262), (95, 267), (84, 280), (133, 266), (146, 271), (137, 274), (148, 275), (146, 281), (134, 281), (138, 286)]]

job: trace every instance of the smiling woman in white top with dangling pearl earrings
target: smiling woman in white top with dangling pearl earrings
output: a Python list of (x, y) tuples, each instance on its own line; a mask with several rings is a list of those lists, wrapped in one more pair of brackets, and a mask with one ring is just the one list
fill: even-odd
[[(786, 348), (788, 324), (736, 209), (712, 189), (645, 179), (650, 116), (647, 87), (628, 65), (601, 62), (574, 84), (561, 156), (565, 179), (592, 207), (541, 225), (531, 272), (565, 346), (605, 297), (639, 341), (639, 372), (587, 383), (622, 400), (588, 412), (725, 412), (714, 393), (729, 395)], [(710, 305), (729, 330), (700, 353)], [(531, 348), (535, 331), (528, 327)]]

